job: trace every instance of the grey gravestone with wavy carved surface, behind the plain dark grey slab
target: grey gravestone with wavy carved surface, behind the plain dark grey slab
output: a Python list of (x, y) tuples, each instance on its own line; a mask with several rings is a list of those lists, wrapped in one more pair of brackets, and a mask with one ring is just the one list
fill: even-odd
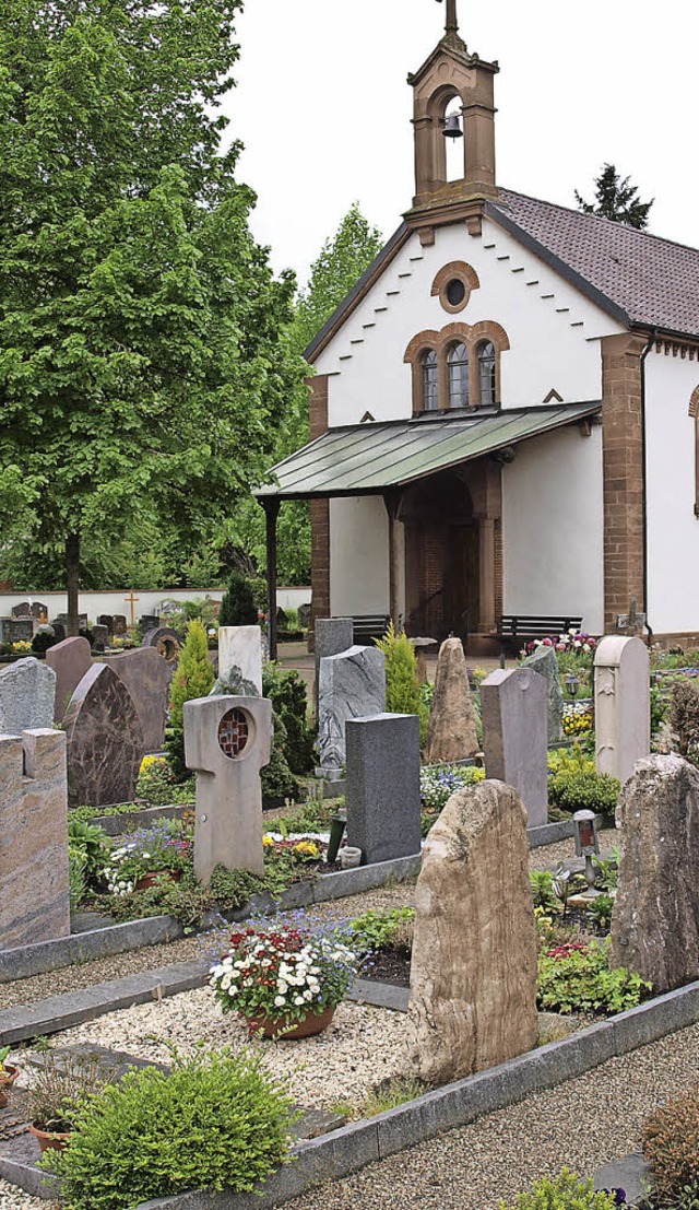
[(386, 659), (377, 647), (324, 656), (318, 680), (320, 777), (335, 780), (346, 762), (345, 724), (386, 710)]

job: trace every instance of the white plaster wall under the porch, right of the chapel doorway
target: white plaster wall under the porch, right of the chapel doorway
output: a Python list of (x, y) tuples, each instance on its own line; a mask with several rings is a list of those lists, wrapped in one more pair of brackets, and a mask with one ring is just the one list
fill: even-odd
[(503, 472), (504, 613), (583, 615), (603, 633), (602, 430), (559, 428)]

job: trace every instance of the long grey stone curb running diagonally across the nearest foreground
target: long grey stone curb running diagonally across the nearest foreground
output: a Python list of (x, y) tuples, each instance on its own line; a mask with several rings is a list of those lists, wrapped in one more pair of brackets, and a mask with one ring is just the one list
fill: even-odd
[[(193, 1189), (140, 1203), (137, 1210), (271, 1210), (314, 1186), (348, 1176), (366, 1164), (555, 1088), (698, 1020), (699, 981), (695, 981), (374, 1118), (301, 1142), (290, 1152), (293, 1163), (277, 1169), (252, 1193)], [(27, 1180), (34, 1179), (28, 1165), (25, 1172)], [(5, 1175), (0, 1160), (0, 1176)]]

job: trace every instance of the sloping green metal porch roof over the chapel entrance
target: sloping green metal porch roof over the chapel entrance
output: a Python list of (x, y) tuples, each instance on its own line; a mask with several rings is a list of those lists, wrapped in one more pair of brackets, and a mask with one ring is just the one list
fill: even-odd
[(379, 495), (483, 457), (551, 428), (574, 424), (600, 410), (595, 403), (560, 403), (550, 408), (516, 408), (461, 416), (365, 421), (329, 428), (304, 449), (272, 467), (276, 484), (255, 496), (313, 500), (329, 496)]

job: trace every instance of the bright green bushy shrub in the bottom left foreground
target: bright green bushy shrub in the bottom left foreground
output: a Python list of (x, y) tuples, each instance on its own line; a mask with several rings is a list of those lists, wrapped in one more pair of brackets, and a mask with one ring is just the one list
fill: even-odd
[(52, 1164), (67, 1210), (132, 1210), (186, 1189), (249, 1192), (288, 1150), (290, 1097), (249, 1053), (128, 1072), (81, 1104)]

